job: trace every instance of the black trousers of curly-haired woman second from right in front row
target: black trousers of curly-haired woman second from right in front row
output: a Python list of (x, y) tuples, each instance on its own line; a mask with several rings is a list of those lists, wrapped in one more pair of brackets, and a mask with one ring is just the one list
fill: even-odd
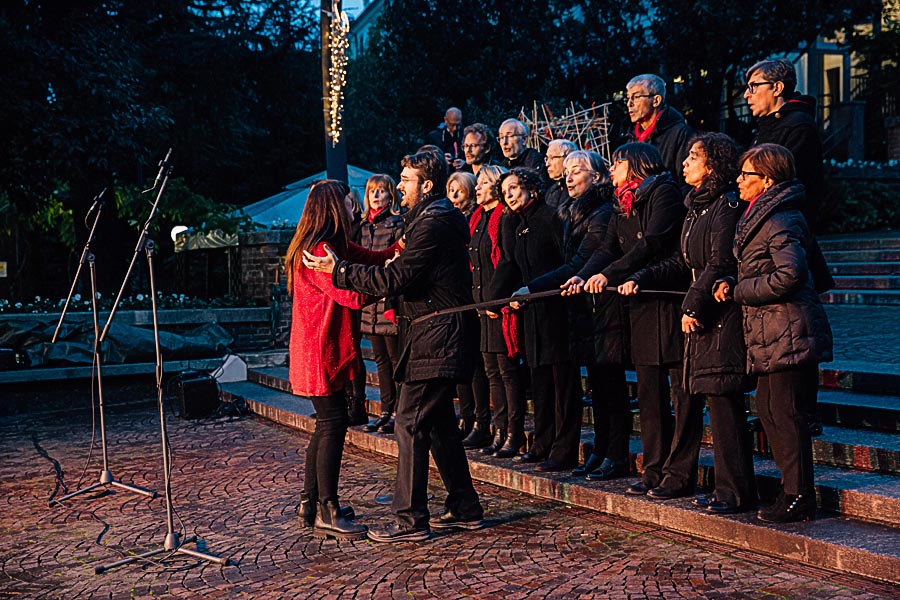
[(713, 434), (715, 496), (734, 506), (752, 506), (756, 503), (756, 479), (744, 395), (707, 395), (706, 405)]

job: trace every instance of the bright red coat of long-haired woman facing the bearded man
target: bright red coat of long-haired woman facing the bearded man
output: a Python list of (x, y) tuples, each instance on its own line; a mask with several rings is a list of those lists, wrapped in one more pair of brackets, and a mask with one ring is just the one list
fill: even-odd
[[(313, 254), (324, 256), (324, 242)], [(351, 243), (340, 258), (354, 263), (383, 265), (393, 258), (397, 246), (380, 252)], [(340, 290), (331, 283), (331, 274), (294, 267), (291, 311), (290, 380), (299, 396), (330, 396), (353, 378), (357, 362), (359, 329), (353, 326), (353, 311), (373, 302), (359, 292)]]

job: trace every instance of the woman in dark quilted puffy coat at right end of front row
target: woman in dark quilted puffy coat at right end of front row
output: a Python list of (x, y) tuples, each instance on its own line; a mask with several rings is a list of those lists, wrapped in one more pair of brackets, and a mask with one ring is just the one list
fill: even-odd
[(782, 146), (760, 144), (741, 157), (738, 187), (750, 206), (735, 232), (737, 282), (726, 278), (715, 291), (716, 300), (733, 297), (742, 307), (757, 412), (781, 469), (782, 492), (758, 513), (767, 522), (815, 517), (809, 421), (819, 363), (832, 360), (831, 327), (810, 274), (805, 190), (794, 176)]

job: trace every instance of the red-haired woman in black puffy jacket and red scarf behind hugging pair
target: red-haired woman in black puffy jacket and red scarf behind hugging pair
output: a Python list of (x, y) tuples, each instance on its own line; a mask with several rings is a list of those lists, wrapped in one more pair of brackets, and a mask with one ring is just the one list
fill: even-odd
[[(372, 175), (366, 182), (366, 212), (360, 222), (360, 245), (368, 250), (384, 250), (403, 237), (405, 225), (400, 216), (400, 196), (390, 175)], [(372, 343), (378, 367), (381, 414), (366, 425), (366, 431), (393, 433), (397, 386), (397, 326), (393, 301), (381, 298), (362, 309), (362, 334)]]

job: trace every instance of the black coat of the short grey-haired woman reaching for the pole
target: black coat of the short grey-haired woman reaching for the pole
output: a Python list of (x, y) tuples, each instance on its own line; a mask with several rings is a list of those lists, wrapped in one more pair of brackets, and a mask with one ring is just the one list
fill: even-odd
[[(578, 273), (606, 235), (612, 219), (611, 186), (591, 188), (574, 200), (563, 223), (566, 262), (528, 282), (532, 292), (558, 288)], [(631, 359), (625, 305), (618, 294), (582, 294), (567, 299), (569, 340), (580, 365), (624, 365)]]

